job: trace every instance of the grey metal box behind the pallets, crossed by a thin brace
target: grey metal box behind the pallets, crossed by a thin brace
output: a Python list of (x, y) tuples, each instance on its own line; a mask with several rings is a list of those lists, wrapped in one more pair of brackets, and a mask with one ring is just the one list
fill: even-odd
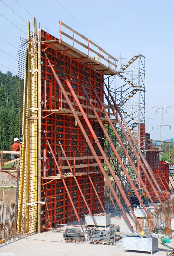
[[(102, 215), (93, 215), (96, 226), (108, 226), (110, 225), (110, 214), (106, 216)], [(85, 227), (86, 226), (94, 226), (94, 221), (92, 220), (90, 215), (85, 215)]]

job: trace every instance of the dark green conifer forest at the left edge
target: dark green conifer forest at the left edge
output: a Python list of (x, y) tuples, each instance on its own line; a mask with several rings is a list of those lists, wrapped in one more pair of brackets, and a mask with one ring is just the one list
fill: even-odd
[(0, 150), (12, 150), (16, 137), (18, 76), (0, 71)]

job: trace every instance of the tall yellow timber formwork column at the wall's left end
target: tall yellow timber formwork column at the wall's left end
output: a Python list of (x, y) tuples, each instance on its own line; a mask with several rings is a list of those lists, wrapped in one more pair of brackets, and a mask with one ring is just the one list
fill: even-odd
[[(33, 35), (27, 22), (26, 76), (23, 92), (22, 135), (23, 148), (19, 180), (18, 227), (25, 234), (37, 231), (37, 169), (38, 169), (38, 68), (36, 19), (33, 18)], [(20, 216), (25, 223), (21, 223)]]

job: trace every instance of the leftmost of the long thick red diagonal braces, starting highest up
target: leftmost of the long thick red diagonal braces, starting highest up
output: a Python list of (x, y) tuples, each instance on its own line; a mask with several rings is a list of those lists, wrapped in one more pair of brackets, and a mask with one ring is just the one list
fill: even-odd
[[(56, 72), (54, 71), (54, 69), (53, 69), (53, 67), (52, 67), (52, 65), (51, 65), (51, 62), (50, 62), (48, 56), (46, 55), (46, 53), (45, 53), (45, 56), (46, 56), (47, 61), (48, 61), (49, 65), (50, 65), (50, 68), (51, 68), (51, 70), (52, 70), (52, 72), (53, 72), (53, 74), (54, 74), (54, 76), (55, 76), (55, 79), (56, 79), (56, 81), (57, 81), (57, 83), (58, 83), (60, 89), (62, 90), (62, 93), (64, 94), (65, 100), (67, 101), (67, 104), (69, 105), (69, 107), (70, 107), (70, 109), (71, 109), (71, 112), (73, 113), (73, 115), (74, 115), (74, 117), (75, 117), (75, 119), (76, 119), (76, 121), (77, 121), (77, 123), (78, 123), (78, 125), (79, 125), (79, 128), (80, 128), (80, 130), (82, 131), (83, 136), (84, 136), (85, 139), (86, 139), (86, 143), (87, 143), (87, 144), (89, 145), (89, 147), (91, 148), (91, 151), (92, 151), (92, 153), (93, 153), (93, 155), (94, 155), (94, 157), (95, 157), (95, 160), (96, 160), (97, 164), (99, 165), (99, 168), (101, 169), (101, 171), (102, 171), (102, 173), (103, 173), (103, 175), (104, 175), (104, 177), (105, 177), (105, 179), (106, 179), (106, 182), (108, 183), (108, 185), (109, 185), (109, 187), (110, 187), (110, 189), (111, 189), (111, 191), (112, 191), (112, 194), (113, 194), (114, 198), (116, 199), (116, 201), (117, 201), (117, 203), (118, 203), (118, 206), (120, 207), (121, 211), (123, 212), (123, 215), (124, 215), (124, 217), (125, 217), (127, 223), (129, 224), (130, 229), (132, 229), (132, 231), (134, 232), (133, 227), (132, 227), (132, 225), (130, 224), (129, 219), (128, 219), (127, 215), (126, 215), (125, 212), (124, 212), (123, 206), (122, 206), (122, 204), (121, 204), (121, 202), (120, 202), (120, 200), (119, 200), (119, 198), (118, 198), (118, 196), (117, 196), (117, 194), (116, 194), (114, 188), (112, 187), (112, 184), (111, 184), (111, 182), (110, 182), (110, 180), (109, 180), (109, 178), (108, 178), (108, 176), (107, 176), (107, 174), (106, 174), (106, 172), (105, 172), (105, 170), (104, 170), (104, 168), (103, 168), (103, 166), (102, 166), (102, 164), (101, 164), (101, 162), (100, 162), (100, 160), (99, 160), (99, 158), (98, 158), (96, 152), (94, 151), (94, 148), (93, 148), (93, 146), (92, 146), (92, 144), (91, 144), (91, 142), (90, 142), (90, 140), (89, 140), (89, 138), (88, 138), (88, 135), (86, 134), (86, 132), (85, 132), (85, 130), (84, 130), (84, 128), (83, 128), (83, 126), (82, 126), (82, 124), (81, 124), (81, 122), (80, 122), (80, 119), (79, 119), (78, 115), (76, 114), (76, 111), (75, 111), (75, 109), (73, 108), (73, 105), (71, 104), (71, 102), (70, 102), (70, 100), (69, 100), (69, 97), (68, 97), (68, 95), (66, 94), (66, 91), (65, 91), (65, 89), (64, 89), (64, 87), (63, 87), (63, 85), (62, 85), (62, 83), (60, 82), (60, 79), (58, 78)], [(67, 81), (67, 80), (66, 80), (66, 81)], [(72, 89), (72, 87), (71, 87), (71, 85), (70, 85), (70, 88), (71, 88), (70, 91), (74, 92), (73, 89)], [(73, 97), (74, 97), (76, 100), (78, 100), (75, 93), (73, 93)], [(79, 103), (79, 104), (80, 104), (80, 103)], [(79, 106), (80, 106), (80, 105), (79, 105)], [(81, 107), (80, 107), (80, 108), (81, 108)], [(83, 113), (83, 117), (84, 117), (84, 118), (86, 117), (85, 113)], [(85, 121), (86, 121), (86, 119), (85, 119)], [(89, 123), (88, 119), (87, 119), (87, 122)], [(91, 130), (93, 130), (92, 127), (91, 127)], [(98, 144), (97, 144), (97, 146), (98, 146)], [(101, 145), (99, 145), (99, 147), (100, 147), (100, 149), (102, 150), (102, 152), (104, 153), (104, 151), (103, 151)], [(105, 158), (106, 158), (106, 157), (105, 157)], [(107, 160), (107, 158), (106, 158), (106, 160)]]

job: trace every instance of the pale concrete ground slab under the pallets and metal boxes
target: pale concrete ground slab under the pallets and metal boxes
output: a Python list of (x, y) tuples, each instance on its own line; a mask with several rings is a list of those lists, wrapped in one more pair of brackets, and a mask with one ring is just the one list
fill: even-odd
[[(111, 217), (117, 217), (115, 213), (111, 213)], [(135, 226), (133, 216), (128, 216), (131, 224)], [(84, 225), (84, 220), (81, 221)], [(69, 223), (71, 225), (80, 225), (78, 221), (73, 221)], [(111, 224), (120, 225), (121, 232), (129, 232), (130, 229), (125, 221), (123, 215), (121, 220), (111, 218)], [(65, 229), (65, 227), (62, 227)], [(73, 228), (73, 227), (71, 227)], [(77, 228), (77, 227), (74, 227)], [(100, 230), (103, 230), (104, 227), (99, 227)], [(106, 228), (108, 230), (109, 227)], [(134, 227), (135, 229), (135, 227)], [(86, 229), (84, 229), (86, 230)], [(91, 242), (91, 240), (81, 243), (81, 242), (68, 242), (65, 243), (63, 238), (64, 231), (61, 232), (43, 232), (40, 234), (34, 234), (21, 240), (12, 242), (5, 246), (2, 246), (0, 249), (1, 255), (8, 255), (7, 253), (13, 253), (15, 256), (137, 256), (137, 255), (151, 255), (150, 252), (142, 251), (132, 251), (127, 250), (123, 252), (123, 239), (116, 242), (115, 245), (102, 245)], [(85, 235), (87, 238), (87, 235)], [(153, 255), (155, 256), (165, 256), (166, 250), (168, 254), (172, 251), (174, 245), (174, 237), (171, 239), (171, 243), (167, 244), (167, 247), (161, 244), (160, 239), (158, 239), (158, 252), (154, 251)], [(4, 254), (3, 254), (4, 253)], [(5, 254), (6, 253), (6, 254)], [(11, 254), (12, 255), (12, 254)]]

